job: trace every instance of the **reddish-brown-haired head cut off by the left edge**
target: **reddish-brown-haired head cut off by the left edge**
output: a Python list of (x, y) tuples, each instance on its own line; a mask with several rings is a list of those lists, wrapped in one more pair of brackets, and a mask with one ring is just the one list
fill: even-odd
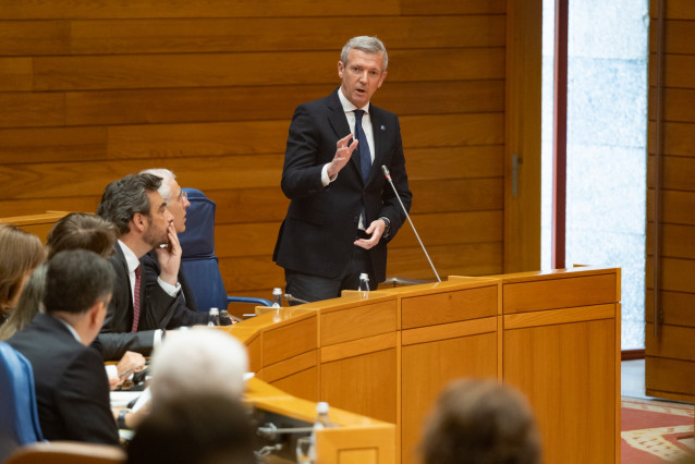
[(16, 306), (29, 276), (46, 259), (38, 236), (12, 224), (0, 224), (0, 313)]

